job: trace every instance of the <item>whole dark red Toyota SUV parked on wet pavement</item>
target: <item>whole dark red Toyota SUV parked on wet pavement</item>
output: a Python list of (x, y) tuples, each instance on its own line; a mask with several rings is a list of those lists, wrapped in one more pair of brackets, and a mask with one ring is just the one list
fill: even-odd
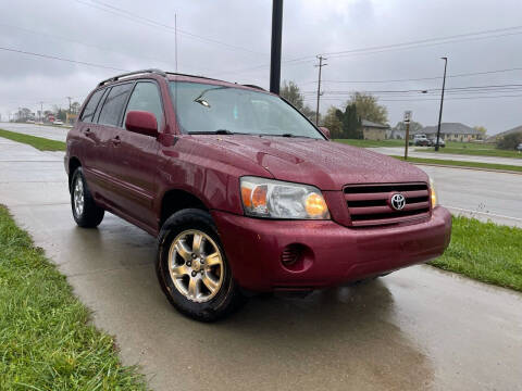
[(256, 86), (147, 70), (101, 81), (67, 136), (74, 219), (104, 211), (158, 237), (170, 302), (199, 320), (247, 292), (300, 291), (439, 256), (451, 218), (433, 182), (328, 140)]

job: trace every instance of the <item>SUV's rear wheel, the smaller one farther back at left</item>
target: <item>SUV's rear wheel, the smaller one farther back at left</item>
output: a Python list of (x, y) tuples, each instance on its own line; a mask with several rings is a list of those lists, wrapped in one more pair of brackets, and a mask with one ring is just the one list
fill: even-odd
[(74, 220), (82, 228), (98, 227), (105, 213), (92, 199), (82, 167), (76, 168), (71, 178), (71, 209)]

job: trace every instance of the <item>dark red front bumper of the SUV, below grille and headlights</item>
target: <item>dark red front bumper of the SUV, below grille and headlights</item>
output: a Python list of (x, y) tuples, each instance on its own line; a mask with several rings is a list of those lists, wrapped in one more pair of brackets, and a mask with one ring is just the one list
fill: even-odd
[[(451, 236), (451, 215), (437, 206), (411, 225), (349, 228), (333, 220), (272, 220), (213, 211), (239, 286), (252, 291), (337, 286), (433, 260)], [(302, 267), (285, 267), (285, 248), (307, 248)]]

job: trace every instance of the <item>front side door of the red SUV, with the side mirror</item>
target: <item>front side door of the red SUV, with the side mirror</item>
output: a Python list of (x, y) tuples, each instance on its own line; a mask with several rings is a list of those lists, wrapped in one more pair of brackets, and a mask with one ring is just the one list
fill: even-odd
[[(123, 127), (129, 111), (146, 111), (154, 114), (159, 131), (165, 125), (163, 103), (159, 86), (153, 80), (136, 83), (123, 116)], [(152, 201), (158, 191), (158, 151), (157, 138), (119, 130), (121, 144), (114, 148), (114, 160), (120, 165), (115, 173), (117, 182), (119, 207), (125, 214), (156, 228), (156, 216), (152, 213)]]

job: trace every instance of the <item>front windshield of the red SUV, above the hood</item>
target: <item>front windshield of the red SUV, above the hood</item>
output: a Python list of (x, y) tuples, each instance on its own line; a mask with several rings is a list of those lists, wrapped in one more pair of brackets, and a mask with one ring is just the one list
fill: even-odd
[(243, 88), (171, 81), (183, 133), (324, 137), (278, 97)]

